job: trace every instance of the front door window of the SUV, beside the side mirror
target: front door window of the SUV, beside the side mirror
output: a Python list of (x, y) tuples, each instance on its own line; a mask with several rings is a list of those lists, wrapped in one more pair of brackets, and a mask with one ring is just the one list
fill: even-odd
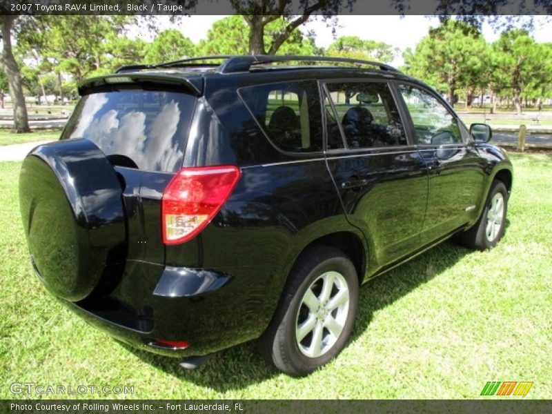
[(417, 144), (460, 144), (462, 134), (456, 117), (428, 92), (415, 86), (400, 85), (416, 130)]

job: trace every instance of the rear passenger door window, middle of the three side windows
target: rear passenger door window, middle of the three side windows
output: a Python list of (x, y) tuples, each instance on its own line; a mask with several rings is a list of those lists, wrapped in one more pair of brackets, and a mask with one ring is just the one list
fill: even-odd
[[(406, 145), (399, 111), (384, 82), (327, 83), (328, 148)], [(329, 94), (329, 96), (328, 96)]]

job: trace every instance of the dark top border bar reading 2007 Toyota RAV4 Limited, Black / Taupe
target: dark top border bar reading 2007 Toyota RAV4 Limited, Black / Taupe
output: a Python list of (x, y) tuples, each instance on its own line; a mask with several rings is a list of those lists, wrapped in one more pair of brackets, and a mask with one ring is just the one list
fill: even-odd
[[(0, 14), (28, 15), (546, 15), (550, 0), (0, 0)], [(237, 10), (234, 5), (238, 6)]]

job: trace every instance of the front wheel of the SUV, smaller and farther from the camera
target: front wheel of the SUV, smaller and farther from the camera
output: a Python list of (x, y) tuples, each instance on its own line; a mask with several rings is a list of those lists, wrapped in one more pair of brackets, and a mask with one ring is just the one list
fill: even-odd
[(491, 184), (481, 217), (473, 227), (460, 235), (462, 244), (478, 250), (496, 246), (504, 235), (507, 210), (508, 190), (502, 181), (495, 180)]

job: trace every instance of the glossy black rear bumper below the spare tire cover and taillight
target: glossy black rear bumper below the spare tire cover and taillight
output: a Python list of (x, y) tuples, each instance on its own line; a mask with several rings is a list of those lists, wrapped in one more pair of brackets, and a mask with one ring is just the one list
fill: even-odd
[[(270, 269), (261, 267), (235, 268), (230, 274), (139, 262), (127, 266), (107, 297), (58, 299), (92, 326), (135, 348), (169, 357), (208, 355), (255, 339), (268, 326), (277, 297), (267, 299)], [(149, 284), (155, 273), (161, 275)], [(170, 348), (156, 344), (157, 339), (190, 345)]]

